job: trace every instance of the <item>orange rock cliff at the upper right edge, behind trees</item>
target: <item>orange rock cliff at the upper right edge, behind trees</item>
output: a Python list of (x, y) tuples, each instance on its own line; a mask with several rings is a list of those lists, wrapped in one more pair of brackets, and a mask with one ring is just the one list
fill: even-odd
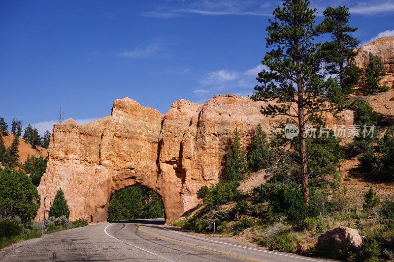
[(394, 36), (385, 36), (375, 41), (355, 49), (357, 56), (352, 58), (350, 63), (361, 68), (366, 68), (369, 63), (369, 52), (381, 58), (385, 65), (386, 75), (383, 79), (388, 82), (389, 87), (394, 84)]

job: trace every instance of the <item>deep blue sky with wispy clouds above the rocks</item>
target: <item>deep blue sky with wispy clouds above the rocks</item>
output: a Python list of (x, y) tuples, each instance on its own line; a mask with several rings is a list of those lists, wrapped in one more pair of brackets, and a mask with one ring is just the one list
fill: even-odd
[[(344, 1), (312, 0), (318, 11)], [(176, 99), (247, 96), (281, 1), (1, 1), (0, 116), (82, 124), (130, 97), (163, 114)], [(350, 0), (355, 36), (394, 35), (394, 0)], [(318, 16), (317, 20), (321, 20)]]

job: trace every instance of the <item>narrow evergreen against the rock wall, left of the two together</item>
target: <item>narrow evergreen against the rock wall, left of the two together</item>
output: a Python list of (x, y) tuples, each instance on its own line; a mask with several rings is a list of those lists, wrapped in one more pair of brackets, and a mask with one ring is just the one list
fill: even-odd
[(246, 167), (246, 151), (239, 141), (238, 128), (235, 127), (225, 156), (225, 172), (229, 180), (234, 181), (242, 178)]

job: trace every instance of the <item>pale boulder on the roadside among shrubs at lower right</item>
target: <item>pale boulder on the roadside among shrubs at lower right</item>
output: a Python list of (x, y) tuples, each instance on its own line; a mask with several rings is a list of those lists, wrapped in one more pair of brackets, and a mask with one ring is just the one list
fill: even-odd
[(357, 229), (338, 227), (331, 229), (318, 237), (317, 245), (329, 247), (359, 247), (362, 239)]

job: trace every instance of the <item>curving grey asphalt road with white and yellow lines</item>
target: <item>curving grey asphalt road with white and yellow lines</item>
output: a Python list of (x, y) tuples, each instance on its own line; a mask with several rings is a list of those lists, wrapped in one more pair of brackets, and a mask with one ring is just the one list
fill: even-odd
[(328, 261), (196, 236), (163, 224), (163, 220), (133, 220), (45, 234), (2, 249), (0, 261)]

